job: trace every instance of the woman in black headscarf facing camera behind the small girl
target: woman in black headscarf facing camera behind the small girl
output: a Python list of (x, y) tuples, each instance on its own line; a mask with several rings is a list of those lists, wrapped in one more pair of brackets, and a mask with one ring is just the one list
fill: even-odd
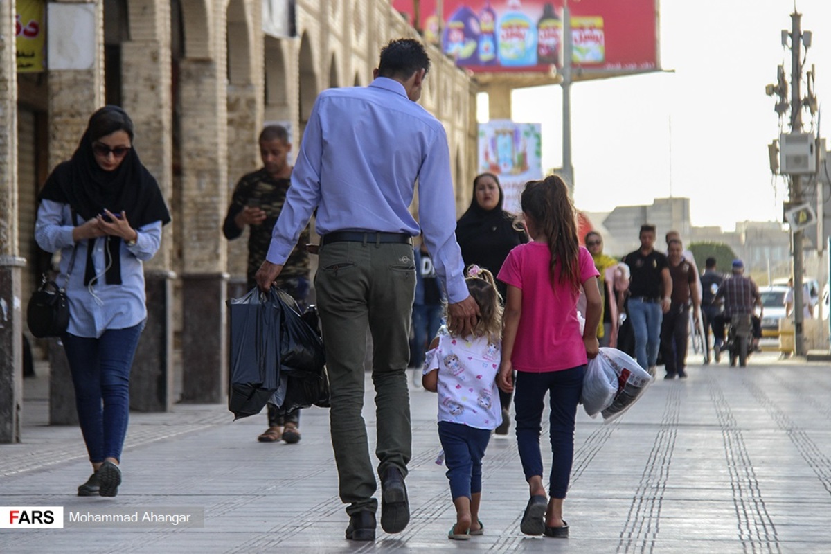
[[(504, 193), (496, 175), (483, 173), (473, 179), (473, 199), (470, 208), (456, 223), (456, 242), (462, 250), (465, 267), (476, 264), (496, 275), (508, 252), (515, 246), (528, 242), (528, 235), (514, 227), (516, 218), (504, 211)], [(505, 297), (504, 282), (496, 287)], [(502, 424), (496, 428), (498, 435), (507, 435), (510, 426), (509, 406), (511, 394), (499, 390), (502, 404)]]

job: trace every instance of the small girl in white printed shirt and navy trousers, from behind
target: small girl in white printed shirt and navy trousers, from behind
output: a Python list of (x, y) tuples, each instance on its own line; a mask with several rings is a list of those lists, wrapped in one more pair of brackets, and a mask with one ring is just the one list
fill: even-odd
[(430, 343), (421, 384), (439, 395), (439, 439), (445, 453), (456, 522), (447, 537), (467, 540), (484, 532), (479, 521), (482, 501), (482, 458), (490, 433), (502, 420), (497, 404), (502, 344), (502, 302), (494, 276), (478, 266), (468, 268), (470, 296), (481, 318), (468, 336), (442, 327)]

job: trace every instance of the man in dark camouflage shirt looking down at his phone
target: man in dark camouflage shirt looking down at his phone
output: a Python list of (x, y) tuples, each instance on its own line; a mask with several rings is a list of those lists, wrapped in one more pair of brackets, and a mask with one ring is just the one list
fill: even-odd
[[(225, 216), (223, 233), (228, 240), (239, 238), (248, 227), (248, 290), (257, 286), (254, 276), (265, 261), (271, 233), (291, 186), (292, 166), (288, 164), (288, 153), (292, 144), (288, 131), (282, 125), (268, 125), (259, 135), (260, 158), (263, 167), (243, 175), (234, 188), (228, 214)], [(288, 292), (305, 310), (309, 293), (309, 242), (308, 226), (286, 260), (283, 272), (274, 284)], [(288, 444), (300, 441), (300, 409), (281, 415), (277, 406), (268, 403), (268, 429), (258, 436), (261, 443), (276, 443), (280, 439)]]

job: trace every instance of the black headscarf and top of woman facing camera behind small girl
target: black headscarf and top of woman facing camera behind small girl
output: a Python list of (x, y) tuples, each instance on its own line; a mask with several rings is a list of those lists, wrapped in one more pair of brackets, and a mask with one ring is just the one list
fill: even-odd
[[(528, 242), (528, 236), (524, 231), (517, 231), (514, 228), (514, 216), (502, 209), (504, 192), (499, 179), (496, 179), (496, 186), (499, 189), (499, 202), (493, 209), (484, 209), (479, 206), (476, 200), (476, 187), (474, 186), (473, 199), (470, 200), (470, 207), (462, 214), (456, 223), (456, 242), (462, 251), (462, 259), (465, 267), (475, 263), (484, 267), (494, 274), (499, 269), (515, 246)], [(477, 176), (474, 183), (479, 179)], [(505, 285), (503, 282), (496, 282), (499, 293), (504, 298)]]

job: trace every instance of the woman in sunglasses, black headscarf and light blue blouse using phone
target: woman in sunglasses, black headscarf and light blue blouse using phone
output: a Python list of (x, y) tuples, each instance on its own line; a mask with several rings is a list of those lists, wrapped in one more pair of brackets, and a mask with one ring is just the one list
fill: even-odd
[(159, 184), (133, 149), (124, 110), (97, 110), (71, 159), (40, 194), (35, 239), (61, 252), (70, 321), (61, 341), (94, 473), (78, 496), (114, 497), (130, 415), (130, 367), (147, 318), (142, 262), (170, 221)]

